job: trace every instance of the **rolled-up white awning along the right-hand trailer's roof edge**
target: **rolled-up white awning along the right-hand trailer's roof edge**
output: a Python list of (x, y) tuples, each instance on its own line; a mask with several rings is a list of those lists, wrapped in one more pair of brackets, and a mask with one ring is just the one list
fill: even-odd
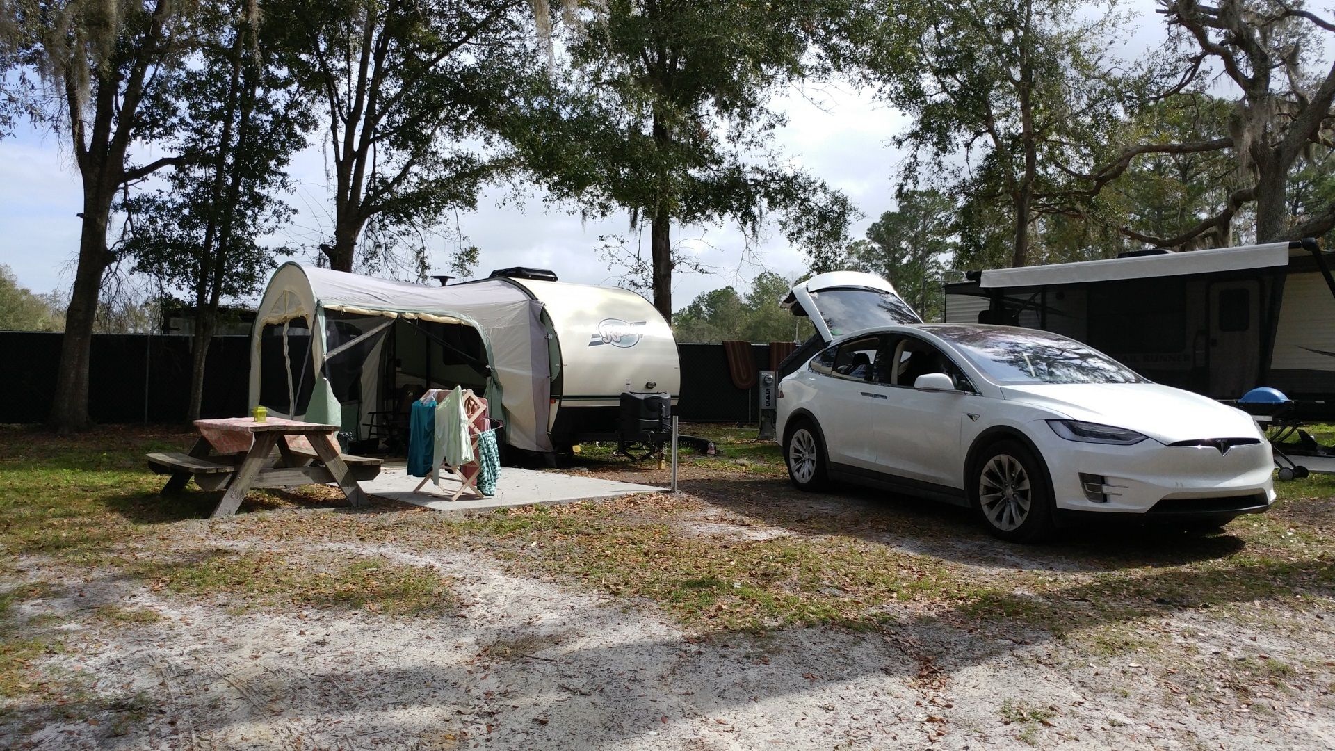
[[(1145, 279), (1151, 277), (1181, 277), (1211, 274), (1240, 269), (1270, 269), (1288, 266), (1290, 245), (1276, 242), (1246, 247), (1220, 247), (1165, 253), (1107, 261), (1080, 261), (1020, 269), (993, 269), (979, 279), (983, 289), (1043, 287), (1048, 285), (1076, 285), (1083, 282), (1109, 282), (1113, 279)], [(1299, 247), (1298, 253), (1302, 253)]]

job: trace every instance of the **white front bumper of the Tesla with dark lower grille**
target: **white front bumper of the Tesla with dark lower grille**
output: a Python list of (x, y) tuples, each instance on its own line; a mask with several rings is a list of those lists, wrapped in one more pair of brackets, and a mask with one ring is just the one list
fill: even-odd
[[(1131, 446), (1083, 444), (1041, 422), (1032, 428), (1059, 512), (1227, 520), (1262, 513), (1275, 501), (1275, 465), (1266, 441), (1222, 454), (1211, 446), (1165, 446), (1153, 438)], [(1104, 501), (1087, 496), (1081, 474), (1104, 478)]]

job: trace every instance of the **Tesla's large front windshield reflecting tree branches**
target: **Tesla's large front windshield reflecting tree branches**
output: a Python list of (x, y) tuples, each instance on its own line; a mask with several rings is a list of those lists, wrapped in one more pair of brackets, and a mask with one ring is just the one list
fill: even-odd
[(1057, 334), (1031, 329), (930, 327), (953, 343), (991, 381), (1025, 384), (1144, 384), (1101, 351)]

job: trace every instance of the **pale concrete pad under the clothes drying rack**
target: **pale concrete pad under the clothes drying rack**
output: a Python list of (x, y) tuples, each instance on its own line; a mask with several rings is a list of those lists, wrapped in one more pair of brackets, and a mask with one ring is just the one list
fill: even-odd
[(469, 512), (526, 506), (531, 504), (569, 504), (595, 498), (617, 498), (631, 493), (662, 493), (666, 490), (666, 488), (655, 488), (653, 485), (635, 485), (633, 482), (617, 482), (561, 472), (538, 472), (535, 469), (502, 466), (501, 477), (497, 480), (495, 496), (478, 498), (466, 493), (459, 496), (458, 501), (451, 501), (450, 496), (459, 489), (457, 480), (442, 478), (439, 486), (427, 482), (422, 486), (421, 492), (414, 493), (413, 488), (417, 488), (417, 484), (421, 481), (421, 477), (409, 474), (405, 462), (394, 462), (383, 465), (380, 474), (375, 480), (359, 482), (359, 485), (368, 496), (379, 496), (435, 510)]

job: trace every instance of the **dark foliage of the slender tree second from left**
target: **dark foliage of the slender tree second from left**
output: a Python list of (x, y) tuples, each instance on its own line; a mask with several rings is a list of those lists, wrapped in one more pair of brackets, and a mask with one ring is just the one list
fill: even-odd
[(206, 331), (222, 299), (251, 294), (267, 277), (275, 249), (259, 241), (291, 216), (278, 194), (292, 187), (284, 168), (310, 126), (286, 71), (266, 64), (274, 29), (247, 7), (202, 8), (196, 28), (211, 43), (164, 91), (186, 163), (166, 188), (120, 204), (135, 270), (190, 290), (196, 330)]

